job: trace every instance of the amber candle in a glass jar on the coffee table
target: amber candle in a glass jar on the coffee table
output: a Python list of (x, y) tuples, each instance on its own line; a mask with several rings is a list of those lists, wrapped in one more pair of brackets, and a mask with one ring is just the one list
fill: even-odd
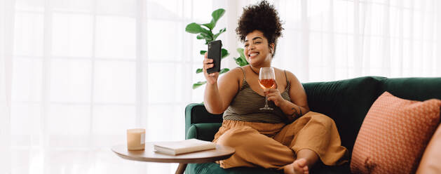
[(145, 129), (134, 128), (127, 130), (127, 149), (144, 150), (145, 148)]

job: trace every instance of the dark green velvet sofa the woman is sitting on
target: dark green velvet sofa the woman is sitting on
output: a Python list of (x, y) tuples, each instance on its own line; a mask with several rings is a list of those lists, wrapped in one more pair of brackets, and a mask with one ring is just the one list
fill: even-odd
[[(365, 76), (330, 82), (303, 83), (311, 111), (334, 119), (341, 137), (341, 145), (352, 152), (355, 138), (367, 111), (376, 98), (389, 93), (409, 100), (441, 99), (441, 78), (397, 78)], [(210, 114), (202, 104), (189, 104), (185, 109), (186, 139), (211, 141), (222, 123), (222, 114)], [(351, 155), (347, 158), (350, 160)], [(265, 168), (220, 168), (217, 163), (189, 163), (186, 173), (280, 173)], [(317, 163), (311, 173), (351, 173), (349, 163), (325, 166)]]

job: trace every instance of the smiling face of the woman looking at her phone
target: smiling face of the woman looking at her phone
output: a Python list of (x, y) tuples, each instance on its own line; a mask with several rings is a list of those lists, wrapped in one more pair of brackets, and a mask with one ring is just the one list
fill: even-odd
[(253, 67), (269, 67), (271, 65), (274, 44), (268, 44), (263, 32), (255, 30), (245, 37), (243, 53), (247, 62)]

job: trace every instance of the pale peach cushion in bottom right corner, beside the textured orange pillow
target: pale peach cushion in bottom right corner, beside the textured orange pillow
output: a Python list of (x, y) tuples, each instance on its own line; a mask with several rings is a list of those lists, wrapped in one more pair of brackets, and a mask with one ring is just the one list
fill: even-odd
[(416, 173), (419, 174), (436, 174), (441, 173), (440, 159), (441, 159), (441, 126), (430, 139), (429, 144), (424, 150), (423, 157), (419, 163)]

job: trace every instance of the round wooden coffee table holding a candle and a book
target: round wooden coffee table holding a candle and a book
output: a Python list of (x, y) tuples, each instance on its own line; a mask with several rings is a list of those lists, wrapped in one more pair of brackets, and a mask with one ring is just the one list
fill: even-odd
[(127, 149), (127, 145), (125, 144), (116, 145), (114, 147), (111, 147), (111, 151), (115, 152), (123, 159), (129, 159), (133, 161), (179, 163), (176, 173), (184, 173), (187, 163), (208, 163), (212, 161), (228, 159), (235, 152), (233, 147), (216, 145), (216, 149), (172, 156), (154, 152), (153, 144), (154, 142), (146, 142), (145, 149), (138, 151), (129, 151)]

